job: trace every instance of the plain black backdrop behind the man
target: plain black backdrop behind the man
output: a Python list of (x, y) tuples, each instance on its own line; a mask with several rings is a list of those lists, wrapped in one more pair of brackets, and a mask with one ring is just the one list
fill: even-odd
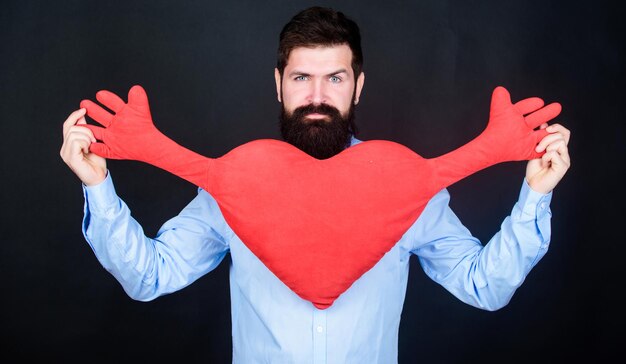
[[(61, 124), (98, 90), (124, 96), (141, 84), (158, 127), (201, 154), (278, 138), (278, 33), (314, 4), (361, 26), (362, 139), (443, 154), (484, 128), (497, 85), (513, 101), (561, 102), (558, 120), (572, 131), (572, 167), (554, 192), (548, 254), (496, 312), (456, 300), (414, 259), (400, 363), (564, 363), (584, 355), (602, 362), (620, 354), (624, 26), (617, 2), (4, 0), (2, 356), (230, 362), (228, 259), (153, 302), (126, 296), (82, 236), (83, 196), (59, 157)], [(148, 235), (196, 194), (151, 166), (108, 166)], [(500, 164), (450, 187), (453, 209), (482, 241), (516, 201), (524, 166)]]

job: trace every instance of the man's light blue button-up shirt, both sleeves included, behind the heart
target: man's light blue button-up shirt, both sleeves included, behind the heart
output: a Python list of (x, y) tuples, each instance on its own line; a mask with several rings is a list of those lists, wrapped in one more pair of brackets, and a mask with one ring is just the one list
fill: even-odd
[[(353, 144), (359, 141), (353, 139)], [(384, 257), (325, 310), (285, 286), (227, 225), (204, 190), (146, 237), (116, 195), (111, 175), (83, 187), (83, 233), (98, 260), (135, 300), (186, 287), (230, 253), (233, 363), (392, 364), (415, 254), (426, 274), (461, 301), (505, 306), (550, 241), (552, 194), (524, 181), (501, 230), (484, 246), (463, 226), (440, 191)]]

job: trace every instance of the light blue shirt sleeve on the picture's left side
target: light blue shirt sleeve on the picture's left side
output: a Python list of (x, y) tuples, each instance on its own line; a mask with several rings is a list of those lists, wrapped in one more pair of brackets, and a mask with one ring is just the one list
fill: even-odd
[(110, 173), (95, 186), (83, 185), (83, 235), (98, 261), (133, 299), (150, 301), (188, 286), (213, 270), (229, 250), (225, 224), (204, 190), (155, 238), (145, 236), (116, 194)]

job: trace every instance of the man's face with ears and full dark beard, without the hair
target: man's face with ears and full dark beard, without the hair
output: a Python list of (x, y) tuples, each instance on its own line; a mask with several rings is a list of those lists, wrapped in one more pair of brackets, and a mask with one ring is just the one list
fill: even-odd
[(283, 76), (275, 70), (285, 141), (319, 159), (343, 150), (364, 77), (355, 80), (348, 45), (292, 50)]

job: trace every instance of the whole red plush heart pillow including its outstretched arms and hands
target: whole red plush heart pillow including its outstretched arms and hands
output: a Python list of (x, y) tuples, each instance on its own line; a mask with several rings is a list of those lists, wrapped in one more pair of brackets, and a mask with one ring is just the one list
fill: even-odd
[[(204, 188), (244, 244), (289, 288), (329, 307), (372, 268), (442, 188), (490, 165), (537, 158), (535, 130), (561, 107), (539, 98), (511, 103), (498, 87), (487, 128), (468, 144), (424, 159), (389, 141), (367, 141), (317, 160), (290, 144), (257, 140), (216, 159), (176, 144), (153, 124), (145, 91), (128, 104), (100, 91), (81, 107), (104, 126), (87, 125), (105, 158), (153, 164)], [(526, 116), (524, 116), (526, 115)]]

